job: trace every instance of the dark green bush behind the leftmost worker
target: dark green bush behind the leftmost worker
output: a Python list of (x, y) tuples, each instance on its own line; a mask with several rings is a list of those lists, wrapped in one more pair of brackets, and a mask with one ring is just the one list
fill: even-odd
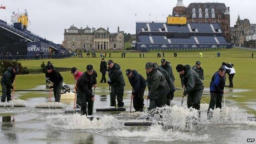
[(19, 72), (18, 74), (29, 74), (30, 71), (27, 69), (27, 67), (21, 66), (21, 62), (18, 61), (11, 61), (11, 60), (2, 60), (0, 61), (0, 75), (5, 73), (7, 71), (8, 67), (14, 67), (18, 66), (19, 67)]

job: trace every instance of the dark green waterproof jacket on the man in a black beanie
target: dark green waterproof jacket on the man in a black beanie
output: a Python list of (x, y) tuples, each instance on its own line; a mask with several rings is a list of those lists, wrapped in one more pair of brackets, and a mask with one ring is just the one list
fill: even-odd
[(197, 72), (191, 69), (190, 65), (185, 65), (185, 73), (180, 75), (181, 85), (185, 85), (186, 89), (183, 96), (198, 90), (203, 90), (203, 82), (199, 78)]

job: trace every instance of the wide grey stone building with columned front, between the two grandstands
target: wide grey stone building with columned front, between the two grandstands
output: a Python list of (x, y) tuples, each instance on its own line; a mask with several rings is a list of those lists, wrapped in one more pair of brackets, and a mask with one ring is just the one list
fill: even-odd
[(80, 29), (71, 25), (69, 29), (64, 30), (63, 46), (70, 49), (86, 50), (111, 50), (124, 48), (124, 33), (119, 31), (110, 33), (109, 28), (98, 28), (97, 30), (88, 26)]

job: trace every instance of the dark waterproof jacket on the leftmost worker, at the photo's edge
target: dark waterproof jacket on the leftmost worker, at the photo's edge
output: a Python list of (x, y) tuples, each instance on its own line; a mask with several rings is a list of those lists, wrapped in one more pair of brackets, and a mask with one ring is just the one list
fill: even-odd
[(12, 67), (9, 67), (7, 71), (2, 75), (1, 78), (1, 84), (6, 85), (7, 87), (10, 87), (13, 89), (12, 83), (14, 82), (14, 78), (16, 77), (16, 74), (12, 71)]

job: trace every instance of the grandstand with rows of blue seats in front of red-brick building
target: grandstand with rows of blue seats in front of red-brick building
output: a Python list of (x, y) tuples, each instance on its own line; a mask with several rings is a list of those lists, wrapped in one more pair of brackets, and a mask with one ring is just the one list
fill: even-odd
[(231, 48), (218, 23), (168, 25), (165, 22), (136, 23), (137, 50), (200, 50)]

